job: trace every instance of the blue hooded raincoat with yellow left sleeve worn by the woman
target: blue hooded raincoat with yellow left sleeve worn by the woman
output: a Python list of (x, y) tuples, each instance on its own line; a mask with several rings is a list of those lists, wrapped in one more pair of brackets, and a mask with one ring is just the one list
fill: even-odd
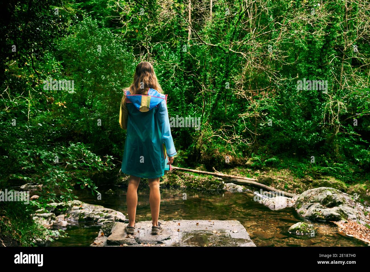
[(167, 156), (176, 155), (176, 150), (169, 125), (167, 95), (152, 88), (145, 89), (144, 95), (126, 90), (121, 101), (120, 126), (127, 129), (123, 173), (158, 178), (165, 170), (171, 170)]

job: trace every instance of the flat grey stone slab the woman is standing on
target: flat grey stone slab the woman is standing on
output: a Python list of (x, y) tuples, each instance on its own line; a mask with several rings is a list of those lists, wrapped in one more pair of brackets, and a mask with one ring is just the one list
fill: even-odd
[(91, 246), (255, 246), (236, 220), (160, 222), (164, 230), (159, 235), (151, 234), (151, 221), (137, 222), (135, 234), (127, 234), (125, 223), (104, 222)]

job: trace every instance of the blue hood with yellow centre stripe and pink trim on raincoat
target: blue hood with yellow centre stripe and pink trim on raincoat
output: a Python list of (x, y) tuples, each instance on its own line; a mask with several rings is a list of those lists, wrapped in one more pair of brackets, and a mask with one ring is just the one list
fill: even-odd
[(167, 95), (161, 94), (152, 88), (149, 88), (148, 95), (130, 94), (130, 91), (126, 90), (125, 96), (126, 102), (132, 103), (141, 112), (150, 111), (159, 103), (162, 103), (163, 100), (167, 103)]

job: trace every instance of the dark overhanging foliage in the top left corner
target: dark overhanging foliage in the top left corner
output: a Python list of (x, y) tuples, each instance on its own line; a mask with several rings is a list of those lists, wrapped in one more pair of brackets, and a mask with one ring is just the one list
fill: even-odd
[(27, 63), (34, 67), (45, 51), (55, 50), (55, 39), (63, 37), (69, 24), (74, 21), (60, 9), (61, 5), (61, 0), (4, 3), (0, 18), (1, 81), (6, 79), (3, 75), (7, 61), (17, 59), (18, 67), (24, 67)]

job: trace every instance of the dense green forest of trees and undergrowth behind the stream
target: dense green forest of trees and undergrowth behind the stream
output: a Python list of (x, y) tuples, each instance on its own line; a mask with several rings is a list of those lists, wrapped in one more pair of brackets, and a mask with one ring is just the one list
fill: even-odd
[[(126, 178), (119, 107), (141, 61), (168, 94), (173, 166), (294, 194), (330, 187), (369, 205), (369, 1), (4, 0), (1, 8), (0, 190), (42, 190), (30, 205), (0, 202), (0, 244), (37, 245), (53, 230), (34, 222), (36, 210), (81, 190), (96, 198), (102, 174)], [(223, 187), (181, 171), (161, 183), (202, 194)]]

